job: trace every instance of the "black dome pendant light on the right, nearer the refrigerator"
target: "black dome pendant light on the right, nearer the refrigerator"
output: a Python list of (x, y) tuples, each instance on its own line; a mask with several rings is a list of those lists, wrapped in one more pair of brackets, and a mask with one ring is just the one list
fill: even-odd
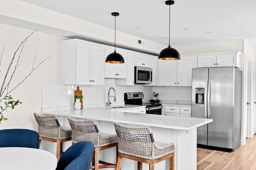
[(161, 60), (179, 60), (180, 59), (180, 53), (172, 48), (170, 46), (170, 10), (171, 10), (171, 5), (174, 4), (173, 0), (168, 0), (165, 2), (166, 5), (169, 5), (169, 46), (165, 49), (163, 49), (159, 55), (158, 59)]

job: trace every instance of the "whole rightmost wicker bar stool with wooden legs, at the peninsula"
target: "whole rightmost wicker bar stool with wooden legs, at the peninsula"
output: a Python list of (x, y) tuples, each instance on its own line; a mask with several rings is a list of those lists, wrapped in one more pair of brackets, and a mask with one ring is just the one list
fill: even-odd
[(154, 164), (170, 158), (170, 170), (174, 170), (173, 143), (158, 144), (154, 142), (152, 131), (146, 126), (127, 126), (114, 123), (118, 136), (118, 160), (116, 170), (120, 170), (122, 158), (138, 162), (138, 170), (142, 170), (142, 162), (149, 164), (154, 170)]

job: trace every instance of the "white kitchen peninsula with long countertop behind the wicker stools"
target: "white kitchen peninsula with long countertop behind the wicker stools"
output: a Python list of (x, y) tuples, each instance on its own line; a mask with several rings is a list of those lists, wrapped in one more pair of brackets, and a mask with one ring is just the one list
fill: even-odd
[[(43, 114), (56, 115), (62, 126), (69, 126), (68, 116), (93, 119), (99, 131), (108, 134), (116, 133), (114, 122), (149, 126), (155, 141), (174, 143), (175, 170), (196, 170), (196, 128), (212, 122), (212, 119), (128, 113), (111, 109), (110, 107), (91, 107), (80, 110), (47, 111)], [(106, 162), (115, 162), (115, 154), (115, 149), (103, 150), (100, 152), (100, 159)], [(155, 164), (155, 169), (168, 169), (168, 162), (169, 160), (164, 160)], [(148, 165), (145, 164), (143, 167), (147, 169)], [(136, 168), (135, 161), (123, 159), (122, 170), (136, 170)]]

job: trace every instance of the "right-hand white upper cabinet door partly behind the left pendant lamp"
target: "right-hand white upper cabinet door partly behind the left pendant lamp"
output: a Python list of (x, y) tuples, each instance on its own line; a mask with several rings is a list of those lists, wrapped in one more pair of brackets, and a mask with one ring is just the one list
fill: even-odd
[(126, 63), (126, 56), (127, 56), (127, 53), (126, 52), (123, 52), (123, 51), (120, 51), (119, 49), (118, 49), (118, 53), (120, 54), (120, 55), (122, 55), (123, 56), (123, 58), (124, 58), (124, 63), (122, 63), (122, 64), (114, 64), (114, 65), (116, 65), (116, 78), (126, 78), (127, 77), (127, 75), (126, 75), (126, 70), (127, 70), (127, 63)]

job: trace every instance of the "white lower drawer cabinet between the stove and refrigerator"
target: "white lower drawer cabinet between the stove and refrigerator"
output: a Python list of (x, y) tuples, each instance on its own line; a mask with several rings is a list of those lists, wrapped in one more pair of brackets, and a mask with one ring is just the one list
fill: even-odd
[(165, 115), (191, 117), (191, 107), (165, 106)]

